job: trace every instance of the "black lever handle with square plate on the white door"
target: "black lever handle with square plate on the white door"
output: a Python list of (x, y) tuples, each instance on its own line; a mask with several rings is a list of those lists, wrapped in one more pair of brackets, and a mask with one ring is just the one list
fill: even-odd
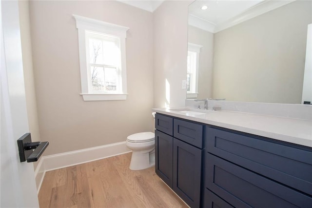
[(20, 162), (27, 163), (38, 161), (49, 142), (31, 142), (30, 133), (26, 133), (18, 139)]

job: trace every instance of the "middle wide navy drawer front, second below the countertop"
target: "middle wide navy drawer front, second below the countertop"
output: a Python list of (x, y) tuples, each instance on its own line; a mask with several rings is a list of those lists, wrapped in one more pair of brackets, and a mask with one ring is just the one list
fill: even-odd
[(234, 207), (311, 208), (312, 198), (206, 153), (206, 187)]

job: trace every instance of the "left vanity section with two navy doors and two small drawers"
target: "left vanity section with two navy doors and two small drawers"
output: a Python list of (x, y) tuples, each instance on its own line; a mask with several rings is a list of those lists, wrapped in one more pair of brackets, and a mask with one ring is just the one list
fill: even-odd
[(191, 208), (202, 207), (205, 125), (156, 113), (156, 174)]

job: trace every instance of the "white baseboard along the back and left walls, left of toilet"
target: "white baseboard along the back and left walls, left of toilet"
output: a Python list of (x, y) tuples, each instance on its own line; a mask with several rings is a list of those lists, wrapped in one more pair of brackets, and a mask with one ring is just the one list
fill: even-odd
[(39, 164), (35, 170), (38, 193), (46, 171), (75, 166), (103, 158), (113, 157), (127, 152), (131, 152), (131, 150), (126, 146), (126, 142), (118, 142), (109, 145), (96, 146), (71, 152), (43, 156), (40, 158)]

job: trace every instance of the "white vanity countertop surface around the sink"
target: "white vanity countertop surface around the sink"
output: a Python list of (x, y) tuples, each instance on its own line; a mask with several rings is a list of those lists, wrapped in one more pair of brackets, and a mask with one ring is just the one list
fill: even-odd
[[(204, 112), (191, 115), (179, 110)], [(154, 108), (157, 113), (188, 119), (208, 125), (229, 128), (297, 145), (312, 147), (312, 121), (224, 110), (198, 110), (189, 107)]]

